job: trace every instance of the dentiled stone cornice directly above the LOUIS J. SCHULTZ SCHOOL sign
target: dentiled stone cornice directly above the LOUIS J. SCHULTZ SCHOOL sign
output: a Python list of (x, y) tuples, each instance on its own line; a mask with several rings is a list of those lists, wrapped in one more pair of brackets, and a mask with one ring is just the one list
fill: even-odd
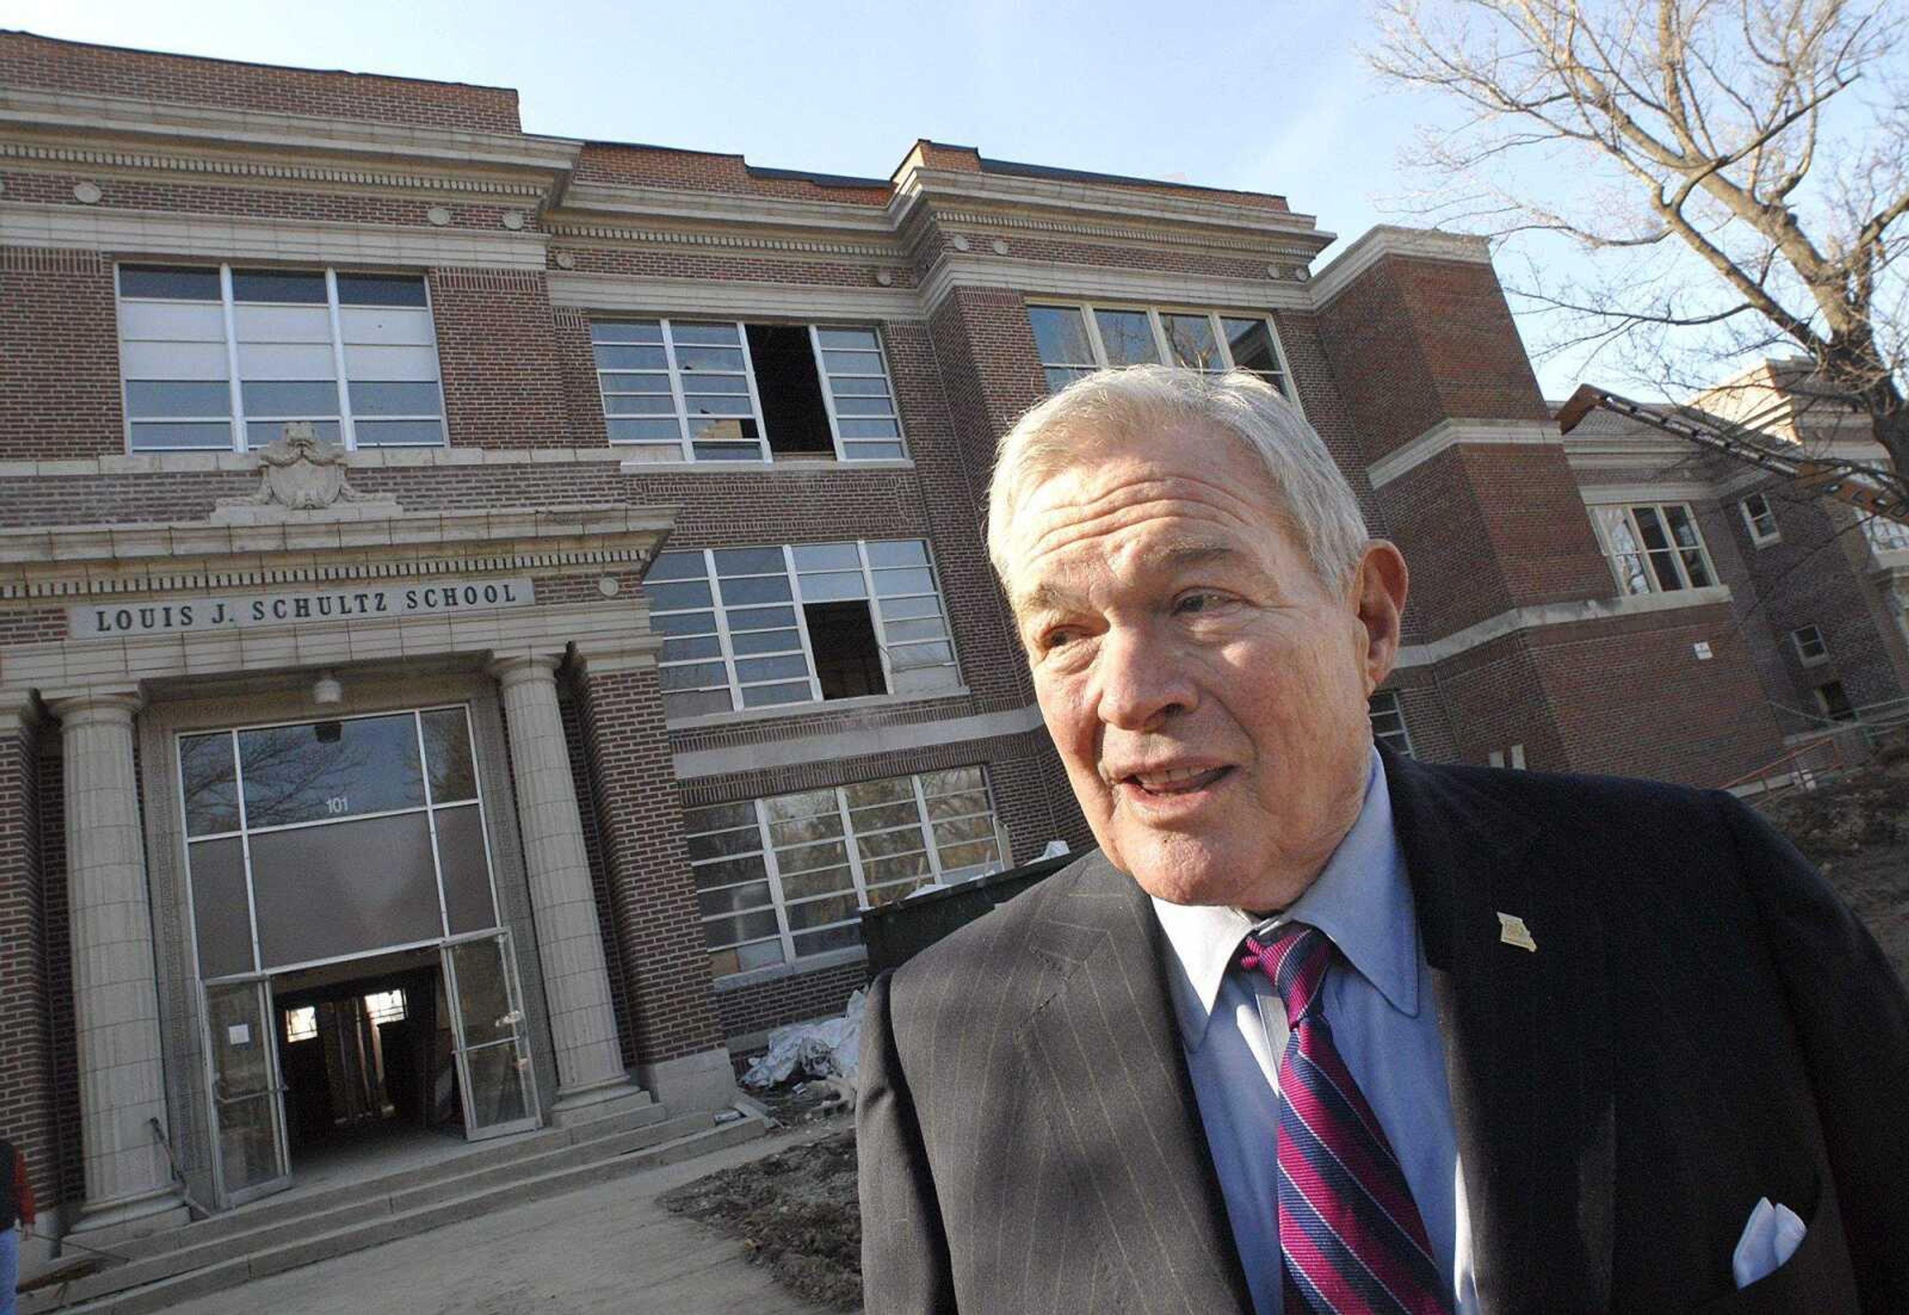
[(676, 508), (584, 504), (0, 531), (0, 599), (647, 565)]

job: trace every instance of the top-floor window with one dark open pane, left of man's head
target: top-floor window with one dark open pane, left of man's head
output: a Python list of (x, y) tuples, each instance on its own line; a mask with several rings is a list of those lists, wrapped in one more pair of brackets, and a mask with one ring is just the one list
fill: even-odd
[(874, 328), (596, 321), (590, 344), (609, 441), (641, 458), (907, 456)]

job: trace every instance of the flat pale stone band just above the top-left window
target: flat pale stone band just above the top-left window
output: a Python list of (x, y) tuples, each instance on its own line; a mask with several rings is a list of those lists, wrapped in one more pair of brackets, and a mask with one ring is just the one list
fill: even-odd
[(548, 237), (533, 229), (493, 233), (0, 202), (0, 246), (76, 246), (208, 260), (542, 269), (546, 242)]

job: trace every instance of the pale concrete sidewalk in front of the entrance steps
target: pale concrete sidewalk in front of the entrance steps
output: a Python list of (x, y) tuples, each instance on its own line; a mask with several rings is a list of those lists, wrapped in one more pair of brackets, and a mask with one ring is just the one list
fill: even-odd
[(567, 1197), (338, 1256), (172, 1307), (178, 1315), (815, 1315), (743, 1242), (670, 1214), (682, 1183), (815, 1141), (811, 1124)]

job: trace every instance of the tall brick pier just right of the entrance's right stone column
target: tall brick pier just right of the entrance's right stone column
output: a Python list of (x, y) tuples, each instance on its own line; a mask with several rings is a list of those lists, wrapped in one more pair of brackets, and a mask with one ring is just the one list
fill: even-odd
[(722, 1046), (655, 668), (578, 681), (584, 754), (615, 905), (636, 1054)]

